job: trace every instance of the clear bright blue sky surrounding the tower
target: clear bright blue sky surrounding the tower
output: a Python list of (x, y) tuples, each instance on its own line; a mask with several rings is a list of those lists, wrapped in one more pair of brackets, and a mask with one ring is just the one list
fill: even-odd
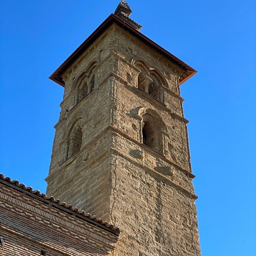
[[(127, 0), (198, 73), (181, 85), (203, 256), (256, 255), (256, 1)], [(0, 0), (0, 172), (46, 191), (64, 89), (48, 76), (119, 0)], [(100, 216), (99, 216), (100, 217)]]

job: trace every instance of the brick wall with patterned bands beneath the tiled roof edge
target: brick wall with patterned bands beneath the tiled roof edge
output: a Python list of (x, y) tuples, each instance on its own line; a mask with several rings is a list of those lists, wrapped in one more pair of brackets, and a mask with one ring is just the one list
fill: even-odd
[[(54, 204), (54, 203), (52, 203)], [(0, 183), (1, 256), (109, 255), (117, 237)]]

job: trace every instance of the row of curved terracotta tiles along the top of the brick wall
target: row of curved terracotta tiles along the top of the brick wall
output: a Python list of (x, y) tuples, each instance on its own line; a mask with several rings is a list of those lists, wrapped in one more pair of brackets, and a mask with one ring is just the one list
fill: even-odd
[[(3, 181), (3, 182), (1, 182)], [(0, 174), (0, 183), (4, 183), (6, 185), (10, 184), (18, 189), (22, 189), (27, 194), (31, 193), (38, 197), (38, 199), (44, 201), (47, 200), (53, 204), (59, 205), (61, 208), (71, 210), (71, 212), (78, 214), (78, 216), (85, 217), (88, 220), (92, 220), (96, 222), (95, 224), (101, 224), (105, 226), (107, 229), (114, 231), (115, 234), (119, 235), (120, 229), (112, 224), (108, 224), (108, 222), (101, 220), (101, 218), (97, 218), (96, 216), (92, 216), (90, 213), (85, 213), (84, 210), (79, 210), (78, 208), (73, 208), (72, 205), (68, 205), (65, 202), (61, 202), (59, 199), (55, 199), (53, 196), (47, 196), (44, 193), (41, 193), (39, 190), (34, 190), (32, 187), (26, 187), (23, 183), (19, 183), (18, 180), (11, 180), (10, 177), (5, 177)]]

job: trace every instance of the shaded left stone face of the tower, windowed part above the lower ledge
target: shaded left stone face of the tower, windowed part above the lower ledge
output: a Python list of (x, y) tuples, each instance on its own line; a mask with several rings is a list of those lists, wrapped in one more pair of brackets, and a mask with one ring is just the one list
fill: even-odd
[[(99, 131), (109, 125), (109, 88), (102, 86), (108, 84), (109, 73), (114, 70), (110, 30), (98, 39), (94, 45), (86, 51), (75, 64), (63, 75), (65, 80), (64, 100), (61, 102), (59, 122), (56, 124), (56, 133), (53, 142), (51, 166), (49, 174), (59, 168), (59, 164), (65, 160), (65, 142), (72, 125), (81, 119), (82, 147), (94, 138)], [(90, 64), (96, 63), (93, 69), (95, 75), (95, 89), (78, 104), (75, 104), (76, 79), (86, 72)], [(97, 105), (95, 105), (97, 102)], [(68, 112), (67, 112), (68, 111)]]

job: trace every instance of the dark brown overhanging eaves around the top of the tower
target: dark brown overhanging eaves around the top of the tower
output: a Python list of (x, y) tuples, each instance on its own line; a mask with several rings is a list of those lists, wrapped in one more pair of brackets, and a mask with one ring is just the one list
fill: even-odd
[(57, 68), (56, 71), (52, 73), (51, 76), (49, 76), (49, 79), (65, 87), (65, 82), (61, 77), (63, 73), (65, 73), (65, 71), (67, 71), (67, 69), (71, 67), (73, 63), (75, 63), (75, 61), (82, 55), (82, 53), (84, 53), (85, 50), (88, 49), (90, 45), (92, 45), (100, 37), (100, 35), (102, 35), (102, 33), (107, 28), (109, 28), (113, 23), (117, 24), (123, 30), (126, 30), (131, 35), (135, 36), (135, 38), (145, 43), (148, 47), (154, 49), (156, 52), (166, 57), (166, 59), (170, 60), (172, 63), (180, 67), (183, 70), (183, 74), (180, 76), (180, 82), (179, 82), (180, 85), (197, 73), (195, 69), (193, 69), (192, 67), (190, 67), (189, 65), (187, 65), (186, 63), (184, 63), (174, 55), (172, 55), (170, 52), (166, 51), (166, 49), (160, 47), (151, 39), (147, 38), (147, 36), (144, 36), (141, 32), (135, 30), (135, 28), (131, 27), (124, 20), (118, 18), (118, 16), (114, 14), (110, 14), (108, 18), (106, 18), (104, 22), (102, 22), (101, 25), (84, 41), (84, 43), (82, 43), (76, 49), (76, 51), (73, 52), (71, 56), (69, 56), (68, 59), (65, 60), (64, 63), (61, 64), (60, 67)]

